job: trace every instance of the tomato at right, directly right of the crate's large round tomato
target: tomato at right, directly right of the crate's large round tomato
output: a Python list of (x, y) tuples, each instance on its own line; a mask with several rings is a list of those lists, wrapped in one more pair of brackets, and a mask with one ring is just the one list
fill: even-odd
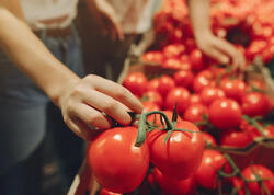
[(267, 97), (259, 92), (251, 92), (242, 96), (242, 113), (248, 116), (265, 116), (270, 110)]

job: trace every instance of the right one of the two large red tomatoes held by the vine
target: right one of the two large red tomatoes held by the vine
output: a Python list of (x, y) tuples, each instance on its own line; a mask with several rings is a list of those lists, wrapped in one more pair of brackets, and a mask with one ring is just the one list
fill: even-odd
[[(199, 131), (193, 123), (187, 121), (176, 123), (176, 128)], [(147, 136), (150, 161), (167, 176), (176, 180), (191, 176), (202, 160), (203, 135), (175, 130), (164, 144), (167, 135), (165, 130), (153, 130)]]

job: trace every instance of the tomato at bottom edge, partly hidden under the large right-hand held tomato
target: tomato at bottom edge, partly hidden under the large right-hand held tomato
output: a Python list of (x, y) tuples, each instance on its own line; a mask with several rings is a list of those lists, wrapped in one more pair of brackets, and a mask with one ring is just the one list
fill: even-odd
[(153, 169), (153, 177), (160, 188), (169, 195), (193, 195), (196, 194), (195, 181), (193, 177), (185, 180), (174, 180), (160, 172), (157, 168)]

